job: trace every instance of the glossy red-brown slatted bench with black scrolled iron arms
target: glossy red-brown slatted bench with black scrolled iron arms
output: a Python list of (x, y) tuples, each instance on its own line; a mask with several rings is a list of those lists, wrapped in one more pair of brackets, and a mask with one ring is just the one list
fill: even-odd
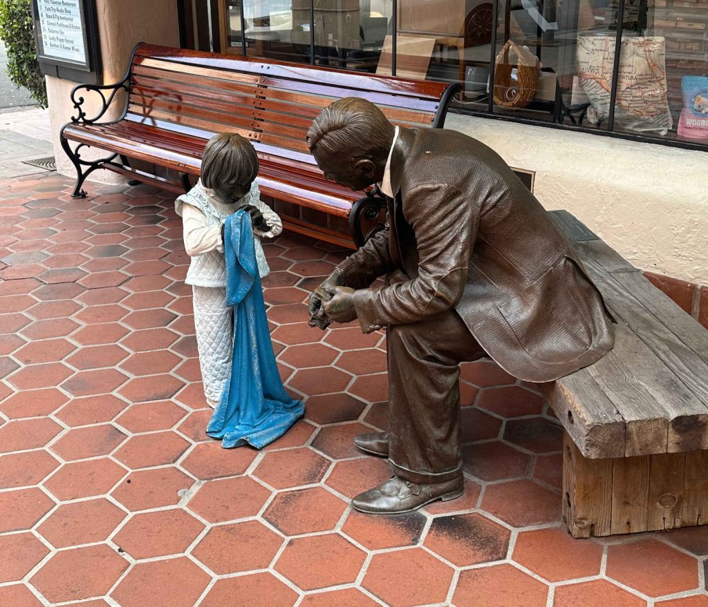
[[(457, 84), (139, 44), (122, 81), (74, 88), (78, 114), (62, 128), (61, 142), (76, 168), (75, 197), (86, 195), (81, 185), (98, 168), (181, 193), (190, 187), (190, 175), (199, 175), (207, 140), (218, 132), (239, 133), (258, 153), (261, 192), (283, 203), (277, 210), (285, 228), (353, 248), (365, 240), (362, 221), (375, 225), (385, 202), (375, 192), (352, 192), (324, 179), (305, 141), (312, 119), (333, 100), (361, 97), (376, 103), (396, 125), (441, 128), (458, 89)], [(90, 94), (100, 96), (101, 105), (92, 117), (84, 107)], [(122, 115), (101, 122), (120, 96), (125, 96)], [(109, 154), (87, 160), (85, 146)], [(169, 169), (175, 176), (139, 170), (131, 161)]]

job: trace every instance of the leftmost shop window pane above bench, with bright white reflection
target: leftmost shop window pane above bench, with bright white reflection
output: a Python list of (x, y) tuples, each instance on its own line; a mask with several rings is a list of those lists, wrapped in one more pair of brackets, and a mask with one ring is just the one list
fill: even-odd
[(309, 63), (309, 0), (244, 0), (246, 54)]

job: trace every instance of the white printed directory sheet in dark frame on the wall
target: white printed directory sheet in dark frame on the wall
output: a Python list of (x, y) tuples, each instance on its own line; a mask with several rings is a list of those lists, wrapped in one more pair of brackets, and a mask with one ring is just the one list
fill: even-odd
[(40, 54), (79, 69), (88, 67), (83, 0), (36, 0)]

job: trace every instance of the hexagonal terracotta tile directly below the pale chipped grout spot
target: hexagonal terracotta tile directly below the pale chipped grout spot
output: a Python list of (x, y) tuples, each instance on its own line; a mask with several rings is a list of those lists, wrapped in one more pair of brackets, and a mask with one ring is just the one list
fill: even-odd
[(133, 558), (183, 553), (204, 525), (182, 509), (136, 514), (118, 531), (113, 542)]

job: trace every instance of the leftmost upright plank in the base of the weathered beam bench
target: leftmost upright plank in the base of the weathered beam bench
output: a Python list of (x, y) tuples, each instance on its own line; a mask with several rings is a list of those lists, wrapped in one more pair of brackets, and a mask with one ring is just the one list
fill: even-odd
[(588, 459), (564, 433), (563, 519), (573, 538), (610, 535), (612, 459)]

